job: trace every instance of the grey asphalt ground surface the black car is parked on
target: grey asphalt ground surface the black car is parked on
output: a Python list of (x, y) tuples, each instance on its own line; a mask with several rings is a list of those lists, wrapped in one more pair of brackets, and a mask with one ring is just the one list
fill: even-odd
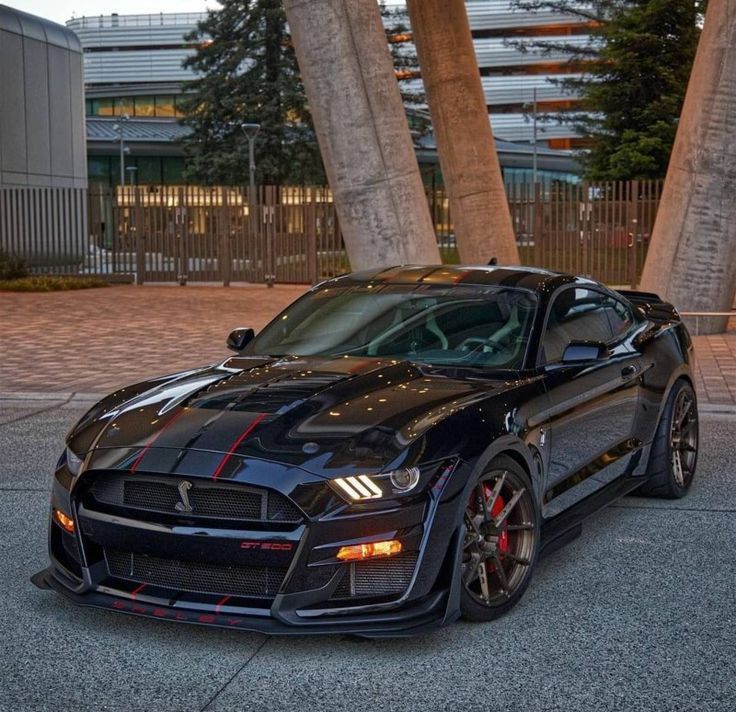
[(501, 620), (357, 641), (142, 620), (34, 588), (81, 414), (0, 402), (0, 710), (736, 710), (736, 416), (703, 416), (686, 499), (599, 513)]

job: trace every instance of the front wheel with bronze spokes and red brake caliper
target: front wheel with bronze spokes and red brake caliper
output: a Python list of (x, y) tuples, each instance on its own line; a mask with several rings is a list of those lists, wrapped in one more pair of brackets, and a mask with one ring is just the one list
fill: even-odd
[(466, 620), (491, 621), (522, 597), (539, 555), (540, 516), (529, 475), (508, 456), (494, 459), (473, 483), (464, 521), (460, 611)]

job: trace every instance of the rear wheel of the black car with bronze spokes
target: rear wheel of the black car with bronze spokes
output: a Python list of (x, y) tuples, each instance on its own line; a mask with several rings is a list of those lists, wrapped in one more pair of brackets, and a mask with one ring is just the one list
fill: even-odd
[(698, 462), (698, 401), (687, 381), (672, 386), (652, 442), (647, 481), (636, 491), (643, 497), (684, 497)]

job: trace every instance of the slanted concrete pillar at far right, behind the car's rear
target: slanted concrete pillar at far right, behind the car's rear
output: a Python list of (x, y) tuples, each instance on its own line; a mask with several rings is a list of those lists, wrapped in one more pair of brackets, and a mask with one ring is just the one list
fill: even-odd
[[(681, 311), (729, 311), (736, 291), (736, 3), (710, 0), (641, 289)], [(718, 333), (725, 318), (700, 319)]]

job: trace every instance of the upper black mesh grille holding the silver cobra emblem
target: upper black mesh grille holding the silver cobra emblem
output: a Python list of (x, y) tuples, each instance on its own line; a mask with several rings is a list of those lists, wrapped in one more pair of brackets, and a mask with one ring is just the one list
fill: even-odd
[[(192, 511), (182, 512), (181, 482), (191, 485), (186, 497)], [(102, 504), (128, 507), (186, 517), (300, 522), (299, 510), (283, 495), (270, 490), (194, 478), (161, 478), (144, 475), (101, 475), (91, 488), (92, 497)]]

